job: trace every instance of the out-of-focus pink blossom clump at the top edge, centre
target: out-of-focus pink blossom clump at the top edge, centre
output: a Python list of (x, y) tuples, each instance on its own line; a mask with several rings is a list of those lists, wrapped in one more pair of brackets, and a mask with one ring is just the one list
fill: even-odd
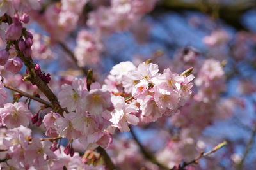
[(88, 25), (99, 34), (124, 31), (154, 8), (156, 0), (111, 0), (111, 6), (100, 6), (89, 14)]

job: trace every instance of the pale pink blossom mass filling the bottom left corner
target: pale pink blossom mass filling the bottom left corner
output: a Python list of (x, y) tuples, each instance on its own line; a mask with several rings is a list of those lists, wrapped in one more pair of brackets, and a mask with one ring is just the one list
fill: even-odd
[(1, 169), (105, 169), (104, 166), (84, 164), (79, 153), (73, 157), (65, 154), (62, 146), (54, 150), (49, 140), (31, 138), (31, 129), (20, 126), (12, 129), (0, 129), (1, 158), (8, 158), (1, 162)]

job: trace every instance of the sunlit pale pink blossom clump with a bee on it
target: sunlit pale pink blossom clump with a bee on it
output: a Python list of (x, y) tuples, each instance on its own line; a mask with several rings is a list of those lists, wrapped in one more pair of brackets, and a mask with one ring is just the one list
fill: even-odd
[[(181, 76), (165, 69), (158, 73), (157, 64), (121, 62), (113, 67), (104, 89), (113, 94), (132, 94), (139, 104), (142, 122), (155, 122), (163, 115), (179, 112), (191, 96), (194, 76)], [(135, 101), (134, 101), (135, 103)]]

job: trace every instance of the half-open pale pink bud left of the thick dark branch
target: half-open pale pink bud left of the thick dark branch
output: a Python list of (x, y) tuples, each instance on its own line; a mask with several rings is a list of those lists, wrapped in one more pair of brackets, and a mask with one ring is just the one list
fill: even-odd
[(13, 57), (7, 60), (6, 64), (4, 65), (4, 69), (12, 73), (17, 73), (20, 71), (22, 66), (22, 60), (19, 57)]

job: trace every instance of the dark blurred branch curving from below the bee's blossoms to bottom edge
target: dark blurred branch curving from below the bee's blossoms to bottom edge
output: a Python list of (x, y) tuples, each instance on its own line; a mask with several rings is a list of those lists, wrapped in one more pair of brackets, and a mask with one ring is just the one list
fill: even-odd
[(154, 155), (152, 153), (148, 152), (148, 150), (146, 150), (146, 148), (144, 148), (144, 146), (138, 140), (138, 138), (137, 138), (136, 134), (134, 133), (132, 127), (130, 127), (130, 132), (132, 134), (132, 138), (134, 139), (134, 141), (136, 141), (136, 143), (139, 146), (139, 148), (141, 150), (141, 153), (144, 155), (145, 159), (147, 159), (150, 162), (152, 162), (152, 163), (156, 164), (157, 166), (161, 167), (161, 169), (169, 169), (164, 164), (161, 164), (160, 162), (158, 162), (157, 159), (154, 157)]

